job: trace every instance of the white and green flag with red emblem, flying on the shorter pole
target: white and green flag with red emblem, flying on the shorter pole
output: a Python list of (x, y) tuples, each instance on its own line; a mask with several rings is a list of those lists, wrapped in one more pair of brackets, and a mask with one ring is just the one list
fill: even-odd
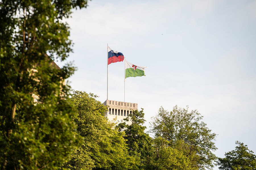
[(145, 68), (148, 68), (148, 67), (134, 65), (125, 60), (125, 78), (145, 76), (145, 72), (144, 72)]

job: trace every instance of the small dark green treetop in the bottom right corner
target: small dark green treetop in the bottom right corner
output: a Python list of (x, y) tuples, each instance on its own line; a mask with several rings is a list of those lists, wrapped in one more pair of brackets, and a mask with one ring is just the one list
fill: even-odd
[(218, 158), (219, 169), (222, 170), (255, 170), (256, 156), (247, 145), (236, 141), (236, 149), (225, 153), (225, 158)]

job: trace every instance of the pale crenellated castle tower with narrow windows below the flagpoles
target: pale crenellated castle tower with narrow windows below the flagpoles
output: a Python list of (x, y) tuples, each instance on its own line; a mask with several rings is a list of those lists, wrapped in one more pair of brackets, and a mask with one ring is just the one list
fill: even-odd
[[(108, 111), (105, 113), (105, 116), (108, 120), (112, 121), (116, 118), (117, 124), (122, 123), (124, 118), (127, 118), (133, 110), (138, 110), (137, 103), (127, 103), (121, 101), (106, 100), (103, 103), (105, 106), (108, 106)], [(128, 125), (131, 125), (131, 120), (127, 122)]]

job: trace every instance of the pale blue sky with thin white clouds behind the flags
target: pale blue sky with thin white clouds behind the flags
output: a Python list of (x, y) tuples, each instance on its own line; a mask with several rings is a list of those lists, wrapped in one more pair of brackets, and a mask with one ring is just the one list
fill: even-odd
[[(73, 90), (107, 98), (107, 44), (148, 67), (125, 81), (125, 101), (144, 108), (197, 109), (224, 157), (241, 141), (256, 152), (256, 1), (100, 1), (74, 10)], [(62, 65), (62, 63), (58, 63)], [(108, 99), (124, 101), (124, 62), (108, 67)], [(218, 169), (215, 167), (215, 169)]]

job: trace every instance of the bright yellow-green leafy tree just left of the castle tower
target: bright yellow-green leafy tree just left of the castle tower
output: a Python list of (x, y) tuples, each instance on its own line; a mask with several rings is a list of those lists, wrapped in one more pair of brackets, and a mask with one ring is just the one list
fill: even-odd
[(114, 124), (104, 117), (105, 105), (96, 100), (96, 95), (74, 91), (71, 101), (77, 107), (74, 121), (76, 134), (83, 137), (69, 161), (63, 165), (69, 169), (137, 169), (137, 160), (128, 155), (123, 132), (114, 129)]

